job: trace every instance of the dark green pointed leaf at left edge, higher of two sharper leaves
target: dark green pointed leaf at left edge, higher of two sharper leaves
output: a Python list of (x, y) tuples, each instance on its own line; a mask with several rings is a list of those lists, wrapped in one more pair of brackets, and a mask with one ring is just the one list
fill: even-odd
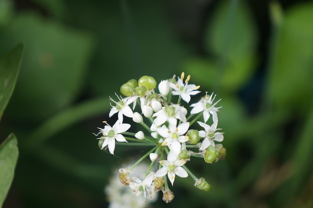
[(0, 119), (15, 86), (23, 48), (20, 43), (0, 59)]

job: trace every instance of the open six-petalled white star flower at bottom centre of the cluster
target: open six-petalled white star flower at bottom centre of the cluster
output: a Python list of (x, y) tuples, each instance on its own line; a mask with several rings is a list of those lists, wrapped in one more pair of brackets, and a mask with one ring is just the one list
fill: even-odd
[(167, 177), (173, 186), (175, 175), (186, 178), (188, 177), (187, 172), (180, 166), (184, 165), (186, 161), (184, 160), (178, 160), (177, 156), (174, 152), (169, 151), (167, 155), (167, 160), (162, 160), (159, 162), (163, 167), (160, 168), (156, 173), (154, 174), (155, 177), (162, 177), (167, 174)]

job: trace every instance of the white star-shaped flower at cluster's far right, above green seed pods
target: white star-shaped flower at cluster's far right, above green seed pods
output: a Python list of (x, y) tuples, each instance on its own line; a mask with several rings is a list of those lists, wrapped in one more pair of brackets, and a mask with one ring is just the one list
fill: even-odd
[(205, 131), (201, 130), (199, 131), (199, 137), (204, 137), (204, 140), (202, 141), (201, 147), (199, 150), (205, 150), (208, 146), (215, 147), (214, 141), (221, 142), (224, 139), (223, 133), (221, 132), (215, 132), (217, 127), (218, 120), (215, 121), (211, 126), (202, 123), (200, 121), (197, 121), (197, 123), (204, 128)]

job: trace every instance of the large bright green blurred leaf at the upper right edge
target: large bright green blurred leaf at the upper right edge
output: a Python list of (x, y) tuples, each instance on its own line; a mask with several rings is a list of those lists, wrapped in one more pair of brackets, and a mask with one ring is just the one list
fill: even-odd
[(313, 3), (290, 8), (278, 31), (273, 63), (269, 71), (267, 98), (278, 108), (311, 106), (313, 94)]

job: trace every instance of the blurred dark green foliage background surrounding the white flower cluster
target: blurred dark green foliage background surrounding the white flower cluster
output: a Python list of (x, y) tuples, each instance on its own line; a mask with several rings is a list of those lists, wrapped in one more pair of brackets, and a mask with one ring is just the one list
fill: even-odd
[(99, 150), (108, 96), (182, 71), (222, 99), (227, 156), (188, 165), (211, 192), (177, 178), (172, 203), (147, 206), (313, 207), (312, 20), (309, 0), (0, 0), (0, 56), (25, 47), (0, 123), (19, 148), (3, 208), (108, 207), (113, 171), (142, 151)]

